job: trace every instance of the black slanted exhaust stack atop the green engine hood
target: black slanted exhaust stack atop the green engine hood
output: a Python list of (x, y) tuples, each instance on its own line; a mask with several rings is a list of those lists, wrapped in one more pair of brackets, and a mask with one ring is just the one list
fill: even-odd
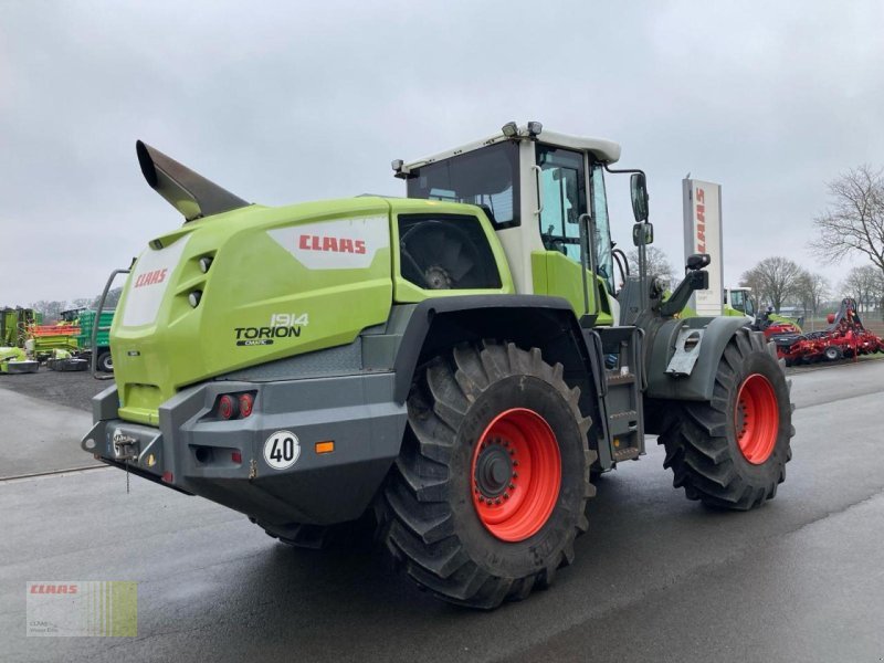
[(137, 140), (135, 151), (138, 154), (138, 164), (147, 183), (181, 212), (185, 221), (229, 212), (250, 204), (146, 143)]

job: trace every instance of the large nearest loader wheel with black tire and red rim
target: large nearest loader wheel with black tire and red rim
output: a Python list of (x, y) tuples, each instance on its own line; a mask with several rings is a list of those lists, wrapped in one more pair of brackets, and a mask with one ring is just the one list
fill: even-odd
[(491, 341), (461, 345), (417, 375), (380, 503), (393, 560), (419, 587), (472, 608), (547, 587), (573, 559), (594, 494), (580, 390), (539, 349)]

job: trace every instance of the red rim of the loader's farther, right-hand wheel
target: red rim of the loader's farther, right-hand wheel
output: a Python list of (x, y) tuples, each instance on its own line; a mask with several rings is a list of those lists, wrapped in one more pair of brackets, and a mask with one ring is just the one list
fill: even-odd
[(739, 450), (747, 461), (760, 465), (770, 457), (777, 445), (780, 411), (774, 387), (765, 376), (753, 373), (740, 385), (734, 427)]

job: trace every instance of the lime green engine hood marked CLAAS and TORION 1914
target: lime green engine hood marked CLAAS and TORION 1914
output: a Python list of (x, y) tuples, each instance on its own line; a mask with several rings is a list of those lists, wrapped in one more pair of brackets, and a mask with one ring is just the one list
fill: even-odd
[[(175, 264), (151, 260), (172, 250)], [(114, 318), (120, 415), (157, 425), (188, 385), (351, 343), (389, 316), (390, 253), (389, 203), (371, 198), (252, 206), (158, 238)]]

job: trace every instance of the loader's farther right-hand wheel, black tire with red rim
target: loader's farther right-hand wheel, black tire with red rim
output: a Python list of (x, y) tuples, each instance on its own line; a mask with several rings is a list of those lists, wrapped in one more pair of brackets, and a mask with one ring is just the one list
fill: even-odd
[(748, 511), (772, 499), (792, 456), (789, 390), (774, 346), (738, 329), (718, 362), (712, 401), (674, 403), (664, 424), (659, 442), (673, 485), (719, 508)]

